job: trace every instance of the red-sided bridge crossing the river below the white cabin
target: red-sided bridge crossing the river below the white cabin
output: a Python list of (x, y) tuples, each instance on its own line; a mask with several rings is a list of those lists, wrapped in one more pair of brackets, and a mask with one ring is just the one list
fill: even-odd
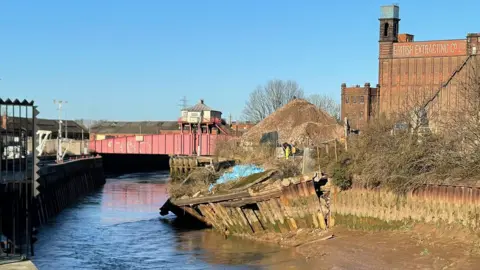
[(99, 154), (143, 154), (143, 155), (213, 155), (215, 143), (226, 139), (218, 134), (155, 134), (109, 138), (90, 141), (90, 150)]

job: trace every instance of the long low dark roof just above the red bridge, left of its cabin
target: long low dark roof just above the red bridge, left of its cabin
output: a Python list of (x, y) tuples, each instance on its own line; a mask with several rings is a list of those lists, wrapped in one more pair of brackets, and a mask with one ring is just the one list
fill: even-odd
[(93, 125), (91, 133), (96, 134), (158, 134), (166, 130), (178, 130), (176, 121), (105, 121)]

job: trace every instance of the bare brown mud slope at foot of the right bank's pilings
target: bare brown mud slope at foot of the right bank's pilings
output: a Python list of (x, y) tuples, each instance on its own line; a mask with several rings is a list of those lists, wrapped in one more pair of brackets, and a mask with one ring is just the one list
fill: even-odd
[(244, 236), (294, 249), (298, 258), (273, 269), (475, 269), (480, 238), (460, 227), (417, 225), (394, 231), (336, 226), (325, 231)]

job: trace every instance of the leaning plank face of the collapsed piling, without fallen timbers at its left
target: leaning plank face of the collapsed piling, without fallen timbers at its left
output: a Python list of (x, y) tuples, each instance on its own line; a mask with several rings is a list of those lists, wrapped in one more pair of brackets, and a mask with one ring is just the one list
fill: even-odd
[(220, 232), (253, 234), (286, 233), (299, 228), (327, 229), (327, 213), (322, 210), (312, 181), (293, 180), (279, 190), (281, 192), (270, 192), (271, 196), (268, 192), (254, 194), (245, 200), (210, 202), (197, 208), (207, 223)]

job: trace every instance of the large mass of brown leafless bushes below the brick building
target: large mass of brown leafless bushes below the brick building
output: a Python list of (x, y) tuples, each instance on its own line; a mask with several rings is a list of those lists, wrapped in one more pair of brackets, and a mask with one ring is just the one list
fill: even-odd
[[(354, 181), (368, 188), (381, 186), (405, 193), (424, 184), (462, 185), (478, 177), (480, 155), (478, 151), (463, 151), (460, 137), (452, 136), (448, 130), (422, 134), (410, 129), (393, 134), (392, 127), (400, 121), (377, 119), (360, 135), (349, 137), (351, 165), (346, 172), (356, 176)], [(339, 169), (332, 173), (345, 179)], [(343, 180), (335, 181), (343, 184)]]

